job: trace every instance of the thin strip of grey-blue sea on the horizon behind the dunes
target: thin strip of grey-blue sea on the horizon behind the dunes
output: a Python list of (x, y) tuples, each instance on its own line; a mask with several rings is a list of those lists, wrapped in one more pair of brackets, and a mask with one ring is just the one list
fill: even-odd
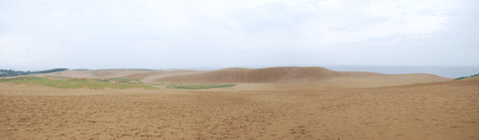
[(202, 68), (164, 68), (160, 70), (221, 70), (227, 68), (249, 68), (262, 69), (270, 67), (323, 67), (336, 71), (366, 71), (378, 72), (384, 74), (409, 74), (409, 73), (428, 73), (445, 78), (468, 77), (479, 74), (479, 66), (352, 66), (352, 65), (261, 65), (261, 66), (241, 66), (241, 67), (202, 67)]

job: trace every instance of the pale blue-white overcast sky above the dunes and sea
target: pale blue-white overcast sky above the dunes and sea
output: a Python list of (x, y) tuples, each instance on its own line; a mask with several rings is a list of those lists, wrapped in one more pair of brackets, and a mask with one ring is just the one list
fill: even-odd
[(477, 0), (0, 0), (0, 69), (479, 66)]

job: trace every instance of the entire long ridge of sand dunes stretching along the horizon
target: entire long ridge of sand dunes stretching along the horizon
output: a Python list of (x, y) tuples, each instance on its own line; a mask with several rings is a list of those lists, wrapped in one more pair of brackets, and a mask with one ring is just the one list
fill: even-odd
[(427, 73), (381, 74), (360, 71), (334, 71), (321, 67), (230, 68), (223, 70), (70, 70), (37, 76), (126, 78), (141, 79), (145, 83), (314, 84), (320, 87), (336, 88), (371, 88), (451, 80)]

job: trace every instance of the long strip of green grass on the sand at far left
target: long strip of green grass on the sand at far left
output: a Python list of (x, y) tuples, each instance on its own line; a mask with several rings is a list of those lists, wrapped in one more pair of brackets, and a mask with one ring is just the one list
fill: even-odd
[(53, 79), (40, 77), (18, 77), (12, 79), (0, 79), (0, 82), (7, 83), (35, 83), (42, 86), (55, 87), (59, 89), (156, 89), (155, 87), (130, 81), (139, 81), (138, 79), (72, 79), (55, 77)]

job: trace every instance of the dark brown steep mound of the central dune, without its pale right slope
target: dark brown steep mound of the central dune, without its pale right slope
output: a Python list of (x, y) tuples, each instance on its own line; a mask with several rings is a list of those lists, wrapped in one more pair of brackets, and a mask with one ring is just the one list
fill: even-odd
[(201, 73), (167, 76), (155, 82), (197, 82), (197, 83), (275, 83), (316, 81), (338, 77), (340, 74), (321, 67), (276, 67), (265, 69), (230, 68)]

